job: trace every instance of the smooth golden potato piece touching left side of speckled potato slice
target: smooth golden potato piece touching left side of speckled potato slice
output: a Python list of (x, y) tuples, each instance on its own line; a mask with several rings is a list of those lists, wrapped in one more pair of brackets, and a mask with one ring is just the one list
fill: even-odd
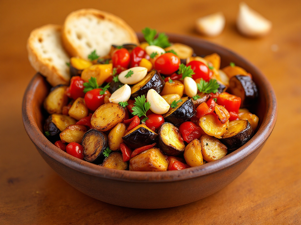
[(191, 167), (203, 165), (202, 145), (199, 140), (194, 139), (186, 146), (184, 158), (186, 163)]

